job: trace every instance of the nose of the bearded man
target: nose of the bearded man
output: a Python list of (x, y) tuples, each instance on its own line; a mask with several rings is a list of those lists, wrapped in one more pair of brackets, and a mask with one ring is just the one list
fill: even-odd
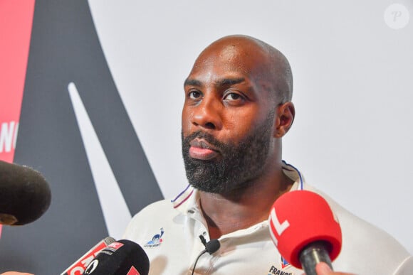
[(216, 99), (204, 97), (195, 107), (192, 124), (204, 129), (219, 130), (222, 127), (221, 106)]

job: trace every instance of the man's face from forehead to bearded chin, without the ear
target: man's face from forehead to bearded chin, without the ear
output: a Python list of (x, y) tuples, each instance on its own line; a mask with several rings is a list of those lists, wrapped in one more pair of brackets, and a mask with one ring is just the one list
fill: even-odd
[(215, 45), (194, 64), (184, 85), (182, 153), (195, 188), (229, 193), (266, 168), (274, 110), (264, 61), (251, 49)]

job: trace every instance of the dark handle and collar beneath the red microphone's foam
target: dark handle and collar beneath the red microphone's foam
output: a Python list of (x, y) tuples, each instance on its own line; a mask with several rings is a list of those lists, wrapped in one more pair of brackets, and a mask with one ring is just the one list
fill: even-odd
[(328, 249), (328, 247), (327, 242), (318, 241), (308, 244), (308, 246), (300, 252), (300, 262), (305, 271), (305, 275), (317, 275), (315, 265), (320, 261), (328, 264), (330, 269), (333, 270), (330, 255), (328, 254), (330, 249)]

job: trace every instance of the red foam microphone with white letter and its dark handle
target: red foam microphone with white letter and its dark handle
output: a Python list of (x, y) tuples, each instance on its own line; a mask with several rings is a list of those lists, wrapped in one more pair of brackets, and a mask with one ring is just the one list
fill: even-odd
[(338, 257), (341, 229), (333, 211), (320, 195), (297, 190), (281, 195), (271, 208), (270, 233), (280, 254), (307, 275), (315, 265)]

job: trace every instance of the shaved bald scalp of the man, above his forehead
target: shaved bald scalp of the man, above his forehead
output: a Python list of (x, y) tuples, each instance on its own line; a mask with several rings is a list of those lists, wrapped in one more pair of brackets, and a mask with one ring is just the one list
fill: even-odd
[(225, 36), (206, 47), (192, 72), (220, 65), (251, 75), (277, 104), (291, 101), (293, 76), (287, 58), (276, 48), (250, 36)]

